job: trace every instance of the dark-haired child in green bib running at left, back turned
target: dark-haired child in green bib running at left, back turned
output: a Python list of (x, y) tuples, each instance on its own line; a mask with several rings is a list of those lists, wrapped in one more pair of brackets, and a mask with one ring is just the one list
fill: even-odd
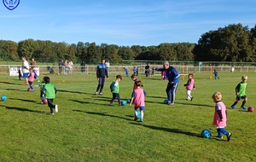
[[(44, 100), (44, 98), (47, 99), (50, 113), (53, 115), (55, 113), (58, 113), (58, 105), (53, 104), (57, 90), (56, 90), (54, 84), (49, 83), (49, 77), (44, 77), (43, 79), (44, 79), (45, 85), (43, 86), (43, 88), (41, 90), (41, 92), (43, 94), (42, 100)], [(55, 109), (55, 113), (54, 113), (53, 109)]]

